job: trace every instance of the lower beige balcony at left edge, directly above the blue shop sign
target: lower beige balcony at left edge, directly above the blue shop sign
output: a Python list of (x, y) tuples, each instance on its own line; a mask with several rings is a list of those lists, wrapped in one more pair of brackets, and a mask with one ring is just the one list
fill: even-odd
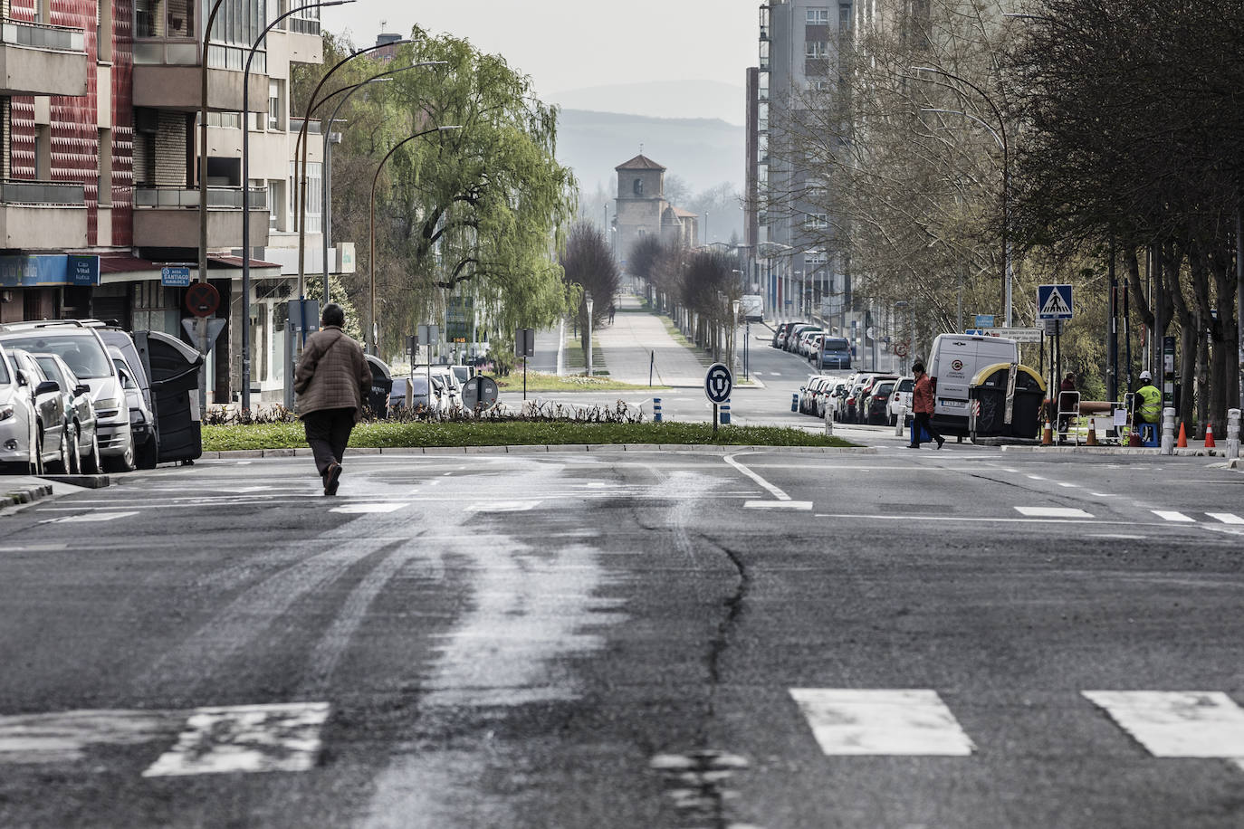
[(86, 247), (86, 196), (70, 181), (0, 181), (0, 247)]

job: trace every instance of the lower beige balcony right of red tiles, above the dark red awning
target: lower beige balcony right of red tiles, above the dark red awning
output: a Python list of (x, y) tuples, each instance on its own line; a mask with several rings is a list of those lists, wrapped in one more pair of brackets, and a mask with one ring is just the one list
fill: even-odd
[[(208, 188), (208, 247), (241, 246), (241, 188)], [(250, 244), (267, 244), (267, 191), (250, 191)], [(134, 188), (134, 245), (198, 247), (199, 191)]]

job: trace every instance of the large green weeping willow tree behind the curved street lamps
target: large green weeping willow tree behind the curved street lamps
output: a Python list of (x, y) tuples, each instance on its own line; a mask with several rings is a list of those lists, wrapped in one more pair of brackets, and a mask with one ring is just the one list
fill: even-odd
[[(348, 51), (327, 36), (325, 63)], [(422, 62), (438, 63), (403, 68)], [(577, 191), (555, 158), (556, 108), (501, 56), (418, 27), (392, 60), (357, 57), (347, 67), (326, 87), (389, 73), (351, 96), (333, 157), (333, 235), (360, 242), (347, 288), (364, 309), (374, 208), (382, 352), (399, 350), (414, 326), (444, 319), (454, 296), (473, 297), (495, 350), (509, 349), (518, 327), (551, 324), (566, 311), (555, 251)], [(297, 78), (296, 94), (310, 86)]]

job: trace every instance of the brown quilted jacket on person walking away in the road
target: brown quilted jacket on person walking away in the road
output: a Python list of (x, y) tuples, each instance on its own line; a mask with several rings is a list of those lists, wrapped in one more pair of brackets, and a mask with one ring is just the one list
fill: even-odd
[(307, 337), (294, 373), (299, 416), (321, 409), (353, 409), (355, 423), (363, 416), (363, 395), (372, 388), (372, 369), (362, 347), (328, 326)]

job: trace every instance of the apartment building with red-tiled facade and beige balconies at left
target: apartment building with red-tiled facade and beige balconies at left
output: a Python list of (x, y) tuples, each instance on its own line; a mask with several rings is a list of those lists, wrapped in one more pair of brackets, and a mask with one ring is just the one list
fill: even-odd
[[(240, 384), (248, 188), (253, 388), (276, 398), (282, 303), (297, 273), (290, 195), (301, 124), (291, 132), (290, 67), (321, 61), (318, 10), (300, 11), (269, 34), (251, 61), (245, 103), (243, 67), (264, 27), (291, 2), (297, 5), (220, 1), (205, 50), (202, 172), (203, 44), (214, 0), (0, 4), (0, 322), (98, 317), (182, 334), (190, 316), (185, 283), (198, 280), (202, 174), (207, 276), (221, 297), (216, 316), (228, 321), (209, 359), (209, 395), (235, 399)], [(249, 181), (241, 180), (244, 117)], [(322, 140), (312, 138), (304, 270), (322, 273)], [(330, 256), (330, 268), (336, 260)]]

